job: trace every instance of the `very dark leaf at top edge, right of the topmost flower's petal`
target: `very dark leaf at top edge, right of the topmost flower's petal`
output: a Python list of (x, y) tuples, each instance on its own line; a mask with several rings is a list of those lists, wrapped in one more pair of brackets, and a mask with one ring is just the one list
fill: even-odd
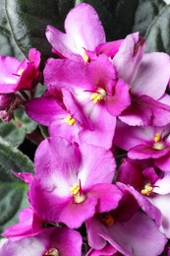
[(88, 3), (95, 8), (103, 24), (107, 40), (124, 38), (132, 32), (138, 0), (80, 0), (79, 2)]

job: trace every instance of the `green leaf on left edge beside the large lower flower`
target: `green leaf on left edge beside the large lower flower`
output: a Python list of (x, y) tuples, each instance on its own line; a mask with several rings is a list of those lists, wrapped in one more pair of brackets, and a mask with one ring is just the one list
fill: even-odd
[[(0, 138), (0, 227), (12, 220), (27, 205), (28, 186), (12, 170), (33, 172), (31, 160)], [(25, 203), (24, 203), (25, 202)]]

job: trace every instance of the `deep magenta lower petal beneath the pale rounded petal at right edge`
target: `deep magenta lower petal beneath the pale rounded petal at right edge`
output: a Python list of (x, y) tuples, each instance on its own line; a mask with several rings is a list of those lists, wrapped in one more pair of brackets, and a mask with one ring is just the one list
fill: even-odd
[(149, 96), (134, 97), (119, 119), (133, 126), (164, 126), (170, 123), (170, 107)]

